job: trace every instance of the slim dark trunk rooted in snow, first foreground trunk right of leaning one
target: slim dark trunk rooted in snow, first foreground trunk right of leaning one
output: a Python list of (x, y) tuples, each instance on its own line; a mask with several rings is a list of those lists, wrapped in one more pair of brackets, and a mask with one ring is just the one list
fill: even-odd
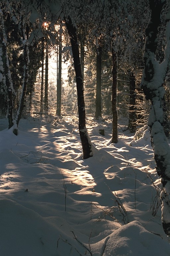
[(117, 96), (117, 53), (112, 47), (112, 143), (118, 142), (118, 112), (116, 106)]

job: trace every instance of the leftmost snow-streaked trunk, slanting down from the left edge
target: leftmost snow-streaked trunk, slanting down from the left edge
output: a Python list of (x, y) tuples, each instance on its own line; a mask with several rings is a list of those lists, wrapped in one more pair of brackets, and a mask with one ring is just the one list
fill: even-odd
[(7, 36), (4, 26), (4, 19), (3, 19), (3, 13), (0, 9), (0, 48), (2, 52), (2, 67), (4, 72), (5, 84), (6, 84), (6, 90), (8, 94), (8, 122), (9, 122), (9, 129), (13, 126), (13, 84), (11, 80), (11, 72), (9, 69), (9, 61), (8, 61), (8, 54), (7, 54)]

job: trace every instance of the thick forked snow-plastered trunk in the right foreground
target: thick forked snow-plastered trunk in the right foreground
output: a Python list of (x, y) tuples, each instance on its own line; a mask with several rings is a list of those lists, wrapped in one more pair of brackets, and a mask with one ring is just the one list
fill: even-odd
[(163, 98), (165, 94), (163, 83), (170, 60), (170, 13), (166, 16), (167, 45), (164, 52), (164, 60), (162, 63), (155, 60), (158, 26), (160, 24), (162, 7), (165, 2), (160, 0), (149, 1), (151, 18), (146, 28), (145, 52), (143, 55), (145, 67), (141, 87), (146, 99), (149, 99), (152, 103), (148, 125), (151, 129), (151, 143), (154, 150), (156, 170), (161, 177), (163, 185), (163, 191), (161, 192), (162, 225), (165, 233), (170, 235), (170, 147), (163, 130)]

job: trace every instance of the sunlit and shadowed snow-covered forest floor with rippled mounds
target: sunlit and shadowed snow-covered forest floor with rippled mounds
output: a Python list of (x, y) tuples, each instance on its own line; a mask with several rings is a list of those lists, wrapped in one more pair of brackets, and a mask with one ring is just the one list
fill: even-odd
[[(149, 132), (137, 141), (87, 118), (96, 147), (84, 160), (76, 116), (55, 124), (0, 119), (0, 256), (170, 255)], [(105, 130), (105, 136), (99, 129)]]

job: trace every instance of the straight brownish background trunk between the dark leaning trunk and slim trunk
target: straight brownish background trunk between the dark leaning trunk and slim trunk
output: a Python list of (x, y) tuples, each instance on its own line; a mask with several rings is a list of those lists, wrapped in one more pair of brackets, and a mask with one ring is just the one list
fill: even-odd
[(102, 117), (102, 100), (101, 100), (101, 86), (102, 86), (102, 46), (97, 48), (96, 57), (96, 110), (95, 118)]

